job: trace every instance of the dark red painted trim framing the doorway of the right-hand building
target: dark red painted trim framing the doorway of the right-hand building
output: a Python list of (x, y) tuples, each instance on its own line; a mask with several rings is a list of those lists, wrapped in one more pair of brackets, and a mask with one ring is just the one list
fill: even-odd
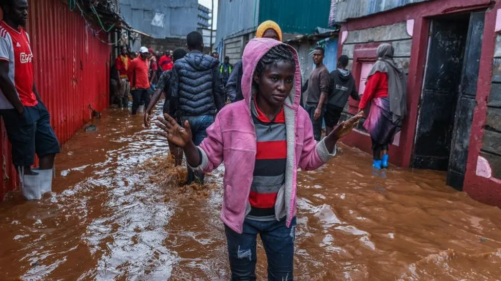
[[(372, 16), (348, 20), (342, 25), (340, 34), (342, 34), (343, 31), (349, 32), (351, 30), (391, 25), (408, 19), (414, 19), (408, 79), (409, 116), (402, 127), (402, 137), (399, 147), (392, 147), (393, 153), (391, 153), (394, 164), (409, 167), (413, 152), (418, 105), (426, 63), (429, 18), (444, 14), (487, 9), (476, 96), (478, 105), (475, 108), (473, 116), (464, 190), (470, 194), (472, 198), (478, 201), (501, 207), (500, 181), (486, 179), (476, 175), (477, 159), (484, 137), (483, 128), (486, 124), (487, 100), (492, 78), (492, 59), (496, 36), (494, 33), (494, 25), (497, 9), (500, 8), (501, 3), (492, 0), (435, 0)], [(340, 55), (342, 52), (341, 40), (339, 41), (338, 50)], [(371, 141), (370, 137), (367, 135), (352, 134), (343, 140), (343, 142), (348, 145), (360, 147), (365, 152), (371, 152)]]

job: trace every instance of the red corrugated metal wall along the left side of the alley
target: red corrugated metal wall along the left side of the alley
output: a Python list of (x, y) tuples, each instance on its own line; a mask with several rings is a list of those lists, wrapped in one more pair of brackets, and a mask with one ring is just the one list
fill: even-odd
[[(103, 110), (109, 103), (107, 34), (94, 35), (80, 12), (61, 0), (29, 1), (28, 33), (34, 54), (35, 83), (49, 109), (51, 124), (61, 143), (90, 120), (89, 105)], [(101, 40), (100, 37), (101, 36)], [(15, 187), (15, 170), (5, 130), (0, 131), (3, 164), (0, 199)], [(57, 160), (56, 160), (57, 162)]]

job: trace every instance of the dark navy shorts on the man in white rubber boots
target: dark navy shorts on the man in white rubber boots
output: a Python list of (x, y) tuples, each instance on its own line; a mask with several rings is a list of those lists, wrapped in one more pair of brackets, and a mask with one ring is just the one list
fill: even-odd
[(42, 102), (25, 106), (23, 115), (16, 110), (0, 110), (7, 137), (12, 146), (14, 166), (31, 166), (38, 158), (60, 152), (59, 142), (50, 126), (50, 115)]

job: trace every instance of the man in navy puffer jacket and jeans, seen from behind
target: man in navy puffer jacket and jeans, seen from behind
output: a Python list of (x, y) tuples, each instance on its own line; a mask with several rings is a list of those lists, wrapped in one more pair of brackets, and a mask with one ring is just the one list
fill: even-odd
[[(226, 96), (218, 69), (219, 60), (202, 54), (202, 34), (190, 32), (186, 40), (189, 52), (178, 59), (172, 69), (170, 112), (176, 113), (181, 124), (189, 122), (193, 142), (199, 145), (207, 137), (205, 130), (214, 123)], [(188, 168), (188, 184), (203, 183), (203, 178)]]

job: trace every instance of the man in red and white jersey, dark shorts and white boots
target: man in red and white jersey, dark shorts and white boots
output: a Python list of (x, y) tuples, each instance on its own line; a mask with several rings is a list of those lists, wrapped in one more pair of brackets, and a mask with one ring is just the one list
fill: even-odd
[[(0, 114), (12, 144), (12, 162), (20, 175), (23, 195), (41, 199), (51, 191), (54, 158), (59, 142), (50, 126), (50, 116), (33, 81), (33, 53), (24, 31), (27, 0), (3, 1), (0, 23)], [(40, 168), (31, 169), (34, 154)]]

